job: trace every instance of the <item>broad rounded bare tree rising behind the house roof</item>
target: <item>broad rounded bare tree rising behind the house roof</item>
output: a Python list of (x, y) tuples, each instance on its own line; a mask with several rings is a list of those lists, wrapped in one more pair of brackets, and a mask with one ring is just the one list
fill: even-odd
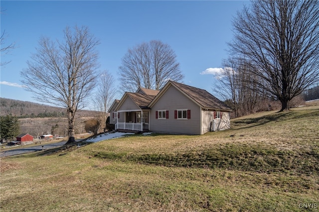
[(168, 80), (184, 78), (174, 51), (159, 40), (129, 49), (119, 70), (121, 88), (130, 92), (140, 87), (160, 90)]

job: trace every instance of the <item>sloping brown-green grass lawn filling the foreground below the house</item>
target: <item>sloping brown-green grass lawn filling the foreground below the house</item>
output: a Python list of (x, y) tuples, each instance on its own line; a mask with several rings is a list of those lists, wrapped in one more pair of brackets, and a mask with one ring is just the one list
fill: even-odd
[(318, 211), (319, 106), (1, 158), (0, 210)]

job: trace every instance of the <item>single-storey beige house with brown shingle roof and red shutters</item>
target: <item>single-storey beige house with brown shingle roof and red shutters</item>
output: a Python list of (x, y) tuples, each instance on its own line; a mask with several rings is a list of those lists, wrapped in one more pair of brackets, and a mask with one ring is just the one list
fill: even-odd
[(199, 135), (230, 128), (230, 107), (203, 89), (173, 81), (160, 91), (126, 92), (112, 106), (109, 112), (118, 131)]

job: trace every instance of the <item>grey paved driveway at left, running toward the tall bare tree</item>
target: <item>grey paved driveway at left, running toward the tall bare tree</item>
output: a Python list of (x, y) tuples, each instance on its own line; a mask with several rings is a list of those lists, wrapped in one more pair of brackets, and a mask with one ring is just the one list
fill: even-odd
[(63, 146), (66, 143), (66, 141), (61, 141), (58, 143), (51, 143), (51, 144), (43, 144), (43, 145), (38, 145), (38, 146), (32, 146), (32, 147), (22, 147), (19, 149), (11, 149), (11, 150), (6, 150), (2, 151), (0, 153), (0, 157), (7, 157), (7, 156), (12, 156), (12, 155), (20, 155), (20, 154), (25, 154), (25, 153), (30, 153), (30, 152), (36, 152), (36, 151), (42, 151), (42, 146), (43, 149), (51, 149), (54, 147), (59, 147)]

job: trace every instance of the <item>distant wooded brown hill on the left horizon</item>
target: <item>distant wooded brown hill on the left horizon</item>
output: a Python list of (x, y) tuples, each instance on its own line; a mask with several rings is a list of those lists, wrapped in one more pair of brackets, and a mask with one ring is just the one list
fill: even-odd
[[(93, 117), (96, 111), (79, 110), (79, 116)], [(66, 109), (44, 104), (0, 98), (0, 115), (13, 115), (18, 118), (66, 117)]]

